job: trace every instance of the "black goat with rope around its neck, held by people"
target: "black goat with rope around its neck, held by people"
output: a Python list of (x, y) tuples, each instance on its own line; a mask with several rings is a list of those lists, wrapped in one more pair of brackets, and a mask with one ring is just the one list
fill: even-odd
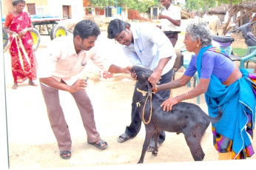
[(158, 154), (157, 141), (161, 130), (183, 133), (194, 160), (203, 160), (204, 153), (201, 147), (203, 134), (210, 122), (217, 123), (220, 120), (223, 112), (219, 111), (218, 116), (212, 118), (206, 115), (199, 106), (186, 102), (176, 104), (170, 112), (164, 112), (161, 108), (163, 100), (157, 94), (152, 94), (152, 86), (147, 81), (152, 71), (136, 66), (132, 67), (131, 72), (133, 71), (136, 72), (138, 79), (135, 101), (146, 128), (146, 137), (138, 163), (143, 163), (146, 149), (153, 135), (155, 150), (152, 154)]

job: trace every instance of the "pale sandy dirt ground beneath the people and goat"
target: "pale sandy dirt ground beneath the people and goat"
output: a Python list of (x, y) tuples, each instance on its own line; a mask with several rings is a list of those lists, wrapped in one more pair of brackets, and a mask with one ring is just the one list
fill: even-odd
[[(48, 36), (41, 36), (41, 45), (36, 51), (38, 64), (44, 59), (48, 41), (50, 41)], [(110, 61), (120, 66), (127, 64), (127, 58), (118, 51), (118, 44), (115, 44), (114, 41), (106, 40), (106, 33), (102, 33), (98, 41), (101, 52)], [(181, 33), (177, 48), (183, 46), (182, 41), (183, 34)], [(232, 45), (241, 47), (242, 44), (243, 40), (236, 38)], [(124, 132), (125, 127), (130, 123), (132, 92), (135, 81), (129, 75), (119, 74), (108, 80), (101, 79), (98, 68), (92, 64), (88, 64), (88, 68), (83, 72), (83, 76), (90, 77), (87, 92), (94, 106), (98, 132), (101, 134), (101, 138), (107, 140), (109, 144), (109, 147), (103, 151), (87, 144), (87, 136), (72, 96), (67, 92), (60, 92), (61, 106), (64, 109), (73, 139), (72, 157), (70, 160), (62, 160), (59, 157), (55, 137), (50, 129), (40, 87), (27, 86), (27, 81), (25, 81), (22, 84), (18, 84), (18, 89), (11, 89), (13, 78), (10, 70), (10, 54), (8, 52), (4, 53), (4, 59), (10, 169), (75, 169), (79, 167), (94, 169), (101, 166), (107, 166), (112, 169), (115, 166), (138, 168), (135, 163), (139, 160), (144, 143), (144, 126), (142, 125), (138, 136), (132, 140), (128, 140), (126, 143), (118, 143), (117, 141), (117, 137)], [(254, 67), (254, 65), (250, 64), (250, 67)], [(180, 69), (176, 73), (176, 78), (180, 77), (183, 71), (184, 69)], [(38, 83), (38, 80), (36, 82)], [(173, 96), (188, 92), (190, 89), (192, 87), (188, 86), (174, 89)], [(189, 102), (196, 103), (196, 98), (190, 99)], [(207, 113), (203, 95), (201, 95), (200, 104), (198, 105)], [(212, 162), (218, 160), (218, 153), (212, 146), (210, 126), (206, 130), (201, 144), (206, 154), (203, 163), (212, 163), (215, 167), (217, 165), (222, 166), (223, 162)], [(253, 146), (256, 149), (255, 140), (253, 140)], [(249, 163), (249, 160), (255, 160), (255, 158), (256, 155), (254, 154), (243, 165), (245, 166), (245, 164)], [(144, 160), (144, 164), (150, 165), (148, 166), (149, 169), (155, 166), (160, 167), (160, 165), (175, 166), (175, 163), (182, 163), (179, 166), (187, 166), (187, 163), (189, 163), (189, 166), (191, 166), (193, 162), (194, 160), (189, 148), (186, 146), (183, 135), (169, 132), (166, 132), (166, 140), (160, 146), (158, 156), (152, 156), (150, 152), (147, 152)], [(203, 163), (200, 165), (205, 165)], [(235, 163), (238, 162), (233, 161), (232, 165)], [(194, 163), (193, 165), (198, 168), (198, 164)]]

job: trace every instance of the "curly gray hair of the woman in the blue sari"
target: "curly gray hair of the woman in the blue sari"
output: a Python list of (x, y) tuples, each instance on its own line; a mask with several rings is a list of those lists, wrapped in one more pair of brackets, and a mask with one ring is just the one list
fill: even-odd
[(201, 47), (207, 47), (212, 44), (212, 33), (206, 21), (192, 22), (187, 25), (186, 33), (190, 35), (193, 41), (198, 38), (201, 40)]

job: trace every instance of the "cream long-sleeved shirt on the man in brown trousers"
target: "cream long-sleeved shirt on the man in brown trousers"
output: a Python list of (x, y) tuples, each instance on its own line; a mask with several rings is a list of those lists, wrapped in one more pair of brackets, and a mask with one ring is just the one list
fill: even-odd
[(95, 47), (89, 51), (81, 50), (76, 54), (73, 35), (53, 39), (42, 58), (43, 60), (38, 64), (38, 78), (52, 77), (57, 81), (62, 79), (70, 86), (78, 80), (90, 59), (104, 71), (107, 71), (111, 65), (97, 55)]

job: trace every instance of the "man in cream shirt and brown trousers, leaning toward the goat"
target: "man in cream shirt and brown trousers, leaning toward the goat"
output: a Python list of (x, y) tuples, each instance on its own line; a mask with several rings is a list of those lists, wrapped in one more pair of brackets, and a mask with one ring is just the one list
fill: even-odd
[(39, 64), (38, 78), (41, 91), (47, 106), (50, 125), (58, 142), (60, 156), (71, 157), (72, 141), (64, 112), (59, 103), (58, 90), (70, 92), (75, 99), (87, 132), (87, 142), (99, 149), (106, 149), (107, 142), (101, 140), (96, 129), (92, 103), (86, 92), (87, 82), (80, 79), (79, 73), (92, 62), (112, 73), (129, 74), (130, 67), (121, 68), (108, 64), (97, 55), (95, 41), (101, 31), (97, 24), (90, 20), (82, 20), (75, 25), (73, 36), (62, 36), (50, 42), (44, 62)]

